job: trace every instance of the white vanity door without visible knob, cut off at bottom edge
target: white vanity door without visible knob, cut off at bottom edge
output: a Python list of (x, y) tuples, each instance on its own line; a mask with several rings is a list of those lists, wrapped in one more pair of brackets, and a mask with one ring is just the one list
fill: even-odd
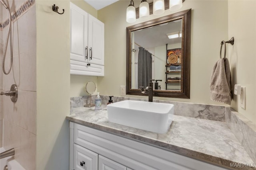
[(126, 170), (126, 166), (99, 155), (99, 170)]

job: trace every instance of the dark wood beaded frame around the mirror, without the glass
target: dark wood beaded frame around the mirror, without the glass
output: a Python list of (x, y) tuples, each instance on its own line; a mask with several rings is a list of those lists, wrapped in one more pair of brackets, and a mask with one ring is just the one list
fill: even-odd
[(169, 98), (190, 98), (190, 43), (191, 43), (191, 9), (138, 23), (126, 28), (126, 94), (147, 96), (140, 89), (132, 89), (131, 81), (131, 32), (139, 29), (159, 25), (162, 23), (182, 19), (182, 73), (181, 90), (154, 90), (153, 95)]

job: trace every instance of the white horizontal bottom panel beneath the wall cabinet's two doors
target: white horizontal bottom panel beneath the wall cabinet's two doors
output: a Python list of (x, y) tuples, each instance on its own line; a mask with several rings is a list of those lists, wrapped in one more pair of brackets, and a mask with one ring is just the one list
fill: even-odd
[(70, 74), (104, 76), (104, 66), (81, 61), (70, 60)]

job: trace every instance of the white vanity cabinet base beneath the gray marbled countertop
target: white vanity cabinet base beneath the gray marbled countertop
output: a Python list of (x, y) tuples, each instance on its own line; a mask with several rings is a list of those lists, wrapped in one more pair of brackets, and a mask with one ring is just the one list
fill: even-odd
[[(77, 151), (77, 148), (85, 151)], [(98, 154), (99, 170), (224, 170), (169, 150), (70, 122), (70, 170), (79, 170), (77, 164), (86, 162), (87, 158), (80, 159), (77, 152), (86, 155), (89, 151), (94, 153), (88, 156), (92, 159), (89, 162), (94, 162), (96, 158), (93, 157)]]

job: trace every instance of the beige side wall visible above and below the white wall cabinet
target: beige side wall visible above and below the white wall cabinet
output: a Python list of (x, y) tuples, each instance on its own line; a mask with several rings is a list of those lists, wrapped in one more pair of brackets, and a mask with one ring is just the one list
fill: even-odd
[[(98, 16), (98, 12), (95, 8), (90, 6), (84, 0), (70, 0), (70, 2), (74, 3), (76, 6), (79, 6), (84, 11), (88, 12), (95, 18)], [(81, 75), (70, 75), (70, 97), (77, 96), (87, 96), (88, 93), (85, 90), (86, 83), (89, 81), (93, 81), (97, 85), (97, 77), (96, 76), (81, 76)], [(96, 89), (97, 92), (97, 89)], [(95, 94), (97, 94), (95, 92)], [(100, 91), (99, 91), (100, 92)]]

